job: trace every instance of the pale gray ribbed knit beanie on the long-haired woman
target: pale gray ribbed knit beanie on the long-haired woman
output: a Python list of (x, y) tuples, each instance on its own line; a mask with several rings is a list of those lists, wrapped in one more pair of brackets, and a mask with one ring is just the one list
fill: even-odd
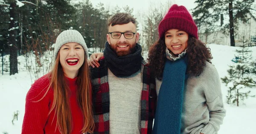
[(81, 33), (76, 30), (65, 30), (62, 31), (56, 39), (54, 45), (54, 59), (57, 58), (58, 51), (61, 49), (61, 46), (71, 42), (80, 44), (84, 48), (86, 59), (89, 57), (88, 49)]

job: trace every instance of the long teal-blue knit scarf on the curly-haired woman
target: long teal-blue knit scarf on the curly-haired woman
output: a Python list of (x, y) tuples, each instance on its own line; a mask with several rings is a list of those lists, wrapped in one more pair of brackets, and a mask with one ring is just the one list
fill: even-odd
[(186, 57), (166, 60), (160, 87), (153, 134), (180, 134)]

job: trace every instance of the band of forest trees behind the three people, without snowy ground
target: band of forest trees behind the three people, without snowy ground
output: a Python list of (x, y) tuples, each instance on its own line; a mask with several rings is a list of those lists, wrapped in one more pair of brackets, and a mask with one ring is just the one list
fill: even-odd
[[(142, 31), (140, 44), (148, 51), (158, 38), (157, 26), (171, 3), (152, 6), (148, 14), (136, 14), (129, 6), (116, 5), (109, 9), (103, 3), (93, 6), (90, 0), (0, 0), (0, 50), (2, 55), (10, 54), (10, 75), (18, 73), (18, 55), (34, 52), (40, 59), (44, 52), (52, 50), (58, 33), (66, 29), (78, 30), (87, 47), (95, 48), (91, 53), (97, 52), (96, 48), (102, 51), (108, 18), (117, 12), (127, 12), (143, 20), (137, 22), (141, 25), (138, 30)], [(247, 22), (247, 14), (256, 11), (255, 0), (196, 0), (195, 4), (192, 16), (199, 31), (207, 25), (204, 33), (223, 25), (224, 18), (220, 14), (227, 16), (225, 20), (228, 22), (221, 28), (229, 33), (231, 46), (235, 46), (235, 34), (239, 32), (236, 31), (237, 21)]]

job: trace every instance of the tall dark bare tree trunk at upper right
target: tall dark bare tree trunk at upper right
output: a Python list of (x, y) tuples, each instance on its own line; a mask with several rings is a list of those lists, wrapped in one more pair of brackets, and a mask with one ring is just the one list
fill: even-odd
[(233, 18), (233, 0), (230, 0), (228, 5), (228, 12), (230, 16), (230, 46), (235, 46), (235, 37), (234, 37), (234, 18)]

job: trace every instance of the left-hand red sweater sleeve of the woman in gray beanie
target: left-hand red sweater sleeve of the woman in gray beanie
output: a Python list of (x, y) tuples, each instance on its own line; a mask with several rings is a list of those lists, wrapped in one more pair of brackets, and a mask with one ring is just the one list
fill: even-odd
[[(25, 114), (22, 125), (22, 134), (44, 134), (44, 126), (47, 123), (49, 113), (49, 92), (40, 100), (47, 87), (36, 81), (26, 95)], [(38, 102), (35, 102), (40, 100)]]

